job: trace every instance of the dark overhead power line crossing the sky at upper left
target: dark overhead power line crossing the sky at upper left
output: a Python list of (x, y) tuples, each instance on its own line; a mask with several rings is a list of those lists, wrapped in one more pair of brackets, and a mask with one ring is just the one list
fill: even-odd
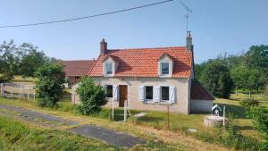
[(166, 0), (166, 1), (157, 2), (157, 3), (153, 3), (153, 4), (140, 5), (137, 7), (132, 7), (132, 8), (128, 8), (128, 9), (119, 10), (119, 11), (113, 11), (113, 12), (108, 12), (108, 13), (99, 13), (99, 14), (94, 14), (94, 15), (90, 15), (90, 16), (71, 18), (71, 19), (65, 19), (65, 20), (59, 20), (59, 21), (46, 21), (46, 22), (19, 24), (19, 25), (6, 25), (6, 26), (0, 26), (0, 29), (26, 27), (26, 26), (38, 26), (38, 25), (52, 24), (52, 23), (58, 23), (58, 22), (84, 20), (84, 19), (88, 19), (88, 18), (105, 16), (105, 15), (109, 15), (109, 14), (113, 14), (113, 13), (122, 13), (122, 12), (132, 11), (132, 10), (136, 10), (136, 9), (140, 9), (140, 8), (144, 8), (144, 7), (148, 7), (148, 6), (152, 6), (152, 5), (156, 5), (156, 4), (164, 4), (164, 3), (168, 3), (168, 2), (172, 2), (172, 1), (173, 0)]

